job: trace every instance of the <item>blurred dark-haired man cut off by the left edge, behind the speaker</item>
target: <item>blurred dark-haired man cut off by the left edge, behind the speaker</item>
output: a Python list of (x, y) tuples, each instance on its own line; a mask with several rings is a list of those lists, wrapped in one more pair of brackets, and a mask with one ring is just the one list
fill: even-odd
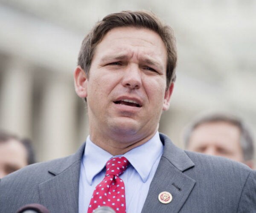
[(28, 139), (0, 131), (0, 178), (33, 163), (34, 153)]

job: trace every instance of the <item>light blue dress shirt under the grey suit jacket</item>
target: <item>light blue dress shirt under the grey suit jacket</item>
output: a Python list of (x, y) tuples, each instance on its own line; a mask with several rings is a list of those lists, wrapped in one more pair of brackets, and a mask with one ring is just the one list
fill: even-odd
[[(123, 155), (131, 163), (120, 176), (125, 184), (126, 213), (141, 212), (162, 154), (163, 144), (156, 132), (145, 144)], [(79, 213), (87, 213), (93, 191), (105, 177), (105, 164), (112, 157), (87, 137), (79, 179)]]

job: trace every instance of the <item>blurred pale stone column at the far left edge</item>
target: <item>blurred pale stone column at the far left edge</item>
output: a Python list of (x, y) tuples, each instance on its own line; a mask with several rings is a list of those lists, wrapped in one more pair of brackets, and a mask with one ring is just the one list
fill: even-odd
[(12, 59), (2, 71), (0, 128), (31, 137), (33, 72), (25, 61)]

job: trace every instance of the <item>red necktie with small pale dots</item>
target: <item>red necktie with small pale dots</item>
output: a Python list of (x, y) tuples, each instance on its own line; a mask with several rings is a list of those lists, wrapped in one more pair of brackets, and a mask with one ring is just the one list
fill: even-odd
[(125, 213), (125, 184), (119, 176), (128, 165), (129, 161), (125, 157), (108, 160), (105, 178), (96, 186), (87, 213), (101, 206), (109, 206), (116, 213)]

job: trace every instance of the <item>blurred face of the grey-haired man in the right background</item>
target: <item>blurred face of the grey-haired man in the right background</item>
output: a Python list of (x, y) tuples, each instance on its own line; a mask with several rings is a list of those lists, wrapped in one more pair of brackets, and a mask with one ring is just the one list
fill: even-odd
[(223, 121), (211, 122), (195, 128), (187, 149), (243, 162), (239, 141), (240, 130), (238, 127)]

